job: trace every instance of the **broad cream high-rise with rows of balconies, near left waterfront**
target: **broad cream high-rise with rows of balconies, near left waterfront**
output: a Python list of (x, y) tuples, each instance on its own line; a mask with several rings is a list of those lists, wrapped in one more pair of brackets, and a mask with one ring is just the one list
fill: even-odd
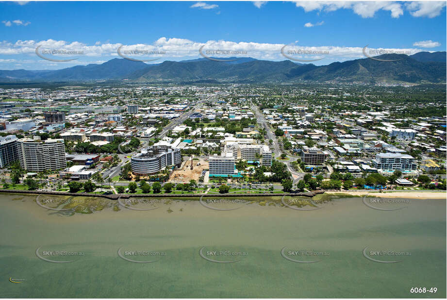
[(66, 168), (65, 144), (63, 139), (42, 141), (22, 138), (17, 140), (20, 167), (28, 171), (42, 172)]

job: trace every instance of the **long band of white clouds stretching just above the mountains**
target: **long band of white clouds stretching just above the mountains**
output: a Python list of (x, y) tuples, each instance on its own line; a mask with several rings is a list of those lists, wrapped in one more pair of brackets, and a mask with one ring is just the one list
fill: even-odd
[[(338, 46), (318, 46), (313, 47), (309, 45), (298, 44), (298, 41), (294, 44), (284, 45), (284, 44), (269, 44), (269, 43), (255, 43), (255, 42), (233, 42), (226, 40), (209, 40), (204, 42), (192, 41), (183, 38), (167, 38), (160, 37), (152, 44), (133, 44), (133, 45), (122, 45), (111, 44), (106, 42), (104, 44), (93, 43), (87, 45), (81, 42), (67, 42), (63, 40), (17, 40), (16, 42), (0, 41), (0, 58), (1, 59), (16, 59), (17, 62), (7, 62), (4, 61), (3, 68), (17, 68), (17, 63), (23, 64), (23, 68), (28, 69), (41, 69), (45, 68), (61, 68), (61, 64), (64, 66), (75, 66), (83, 65), (88, 63), (101, 63), (111, 58), (120, 58), (117, 54), (119, 47), (120, 52), (126, 57), (132, 57), (142, 60), (153, 60), (148, 62), (149, 64), (161, 63), (166, 60), (171, 61), (181, 61), (186, 59), (194, 59), (202, 57), (199, 53), (199, 49), (203, 46), (202, 53), (207, 56), (221, 57), (223, 59), (230, 56), (237, 57), (253, 57), (261, 60), (271, 60), (271, 61), (284, 61), (288, 58), (281, 54), (281, 49), (283, 53), (289, 55), (290, 57), (296, 59), (312, 60), (321, 59), (317, 65), (327, 65), (332, 62), (342, 62), (346, 60), (353, 60), (359, 58), (365, 58), (363, 54), (362, 47), (338, 47)], [(40, 59), (35, 55), (35, 49), (39, 47), (39, 52), (43, 50), (76, 50), (82, 51), (83, 55), (78, 56), (78, 60), (66, 63), (57, 63), (55, 65), (50, 64), (49, 61)], [(127, 50), (127, 51), (126, 51)], [(135, 54), (138, 50), (140, 53), (145, 54)], [(223, 51), (230, 50), (233, 53), (228, 55), (214, 54), (219, 50), (220, 53)], [(299, 50), (299, 51), (297, 51)], [(373, 50), (368, 47), (368, 51)], [(405, 53), (414, 54), (420, 51), (424, 51), (423, 47), (412, 48), (412, 49), (384, 49), (378, 48), (374, 53), (378, 53), (378, 50), (387, 51), (392, 53)], [(143, 52), (144, 51), (144, 52)], [(157, 51), (155, 53), (149, 53), (147, 51)], [(234, 54), (234, 52), (237, 52)], [(309, 53), (312, 54), (296, 54), (296, 53)], [(1, 55), (11, 55), (9, 57), (3, 57)], [(374, 56), (374, 55), (371, 55)], [(57, 55), (55, 55), (57, 57)], [(30, 62), (27, 62), (30, 60)], [(53, 63), (53, 62), (52, 62)], [(70, 65), (71, 64), (71, 65)]]

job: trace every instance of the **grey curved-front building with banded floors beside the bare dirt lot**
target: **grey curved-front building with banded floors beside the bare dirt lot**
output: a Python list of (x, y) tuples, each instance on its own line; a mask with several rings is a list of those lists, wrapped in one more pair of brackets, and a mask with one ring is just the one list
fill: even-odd
[(167, 166), (180, 165), (181, 162), (180, 149), (151, 146), (132, 156), (132, 173), (137, 176), (153, 175)]

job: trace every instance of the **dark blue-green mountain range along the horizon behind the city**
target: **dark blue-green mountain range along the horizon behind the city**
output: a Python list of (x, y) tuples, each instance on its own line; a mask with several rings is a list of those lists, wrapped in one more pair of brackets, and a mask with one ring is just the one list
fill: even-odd
[(0, 82), (60, 82), (123, 80), (147, 83), (295, 83), (309, 82), (405, 82), (445, 83), (446, 51), (413, 55), (383, 54), (371, 58), (335, 62), (326, 66), (274, 62), (251, 57), (218, 62), (206, 58), (165, 61), (148, 65), (127, 59), (60, 70), (0, 70)]

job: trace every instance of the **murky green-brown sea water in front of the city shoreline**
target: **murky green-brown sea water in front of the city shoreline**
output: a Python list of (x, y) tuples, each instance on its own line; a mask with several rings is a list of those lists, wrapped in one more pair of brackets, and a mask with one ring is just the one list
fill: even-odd
[[(0, 195), (2, 298), (446, 297), (445, 199), (411, 200), (395, 211), (371, 209), (362, 198), (313, 211), (259, 204), (216, 211), (174, 201), (69, 217), (34, 200)], [(369, 260), (365, 247), (370, 258), (399, 262)], [(38, 248), (45, 259), (73, 262), (42, 260)], [(130, 262), (118, 249), (155, 262)]]

